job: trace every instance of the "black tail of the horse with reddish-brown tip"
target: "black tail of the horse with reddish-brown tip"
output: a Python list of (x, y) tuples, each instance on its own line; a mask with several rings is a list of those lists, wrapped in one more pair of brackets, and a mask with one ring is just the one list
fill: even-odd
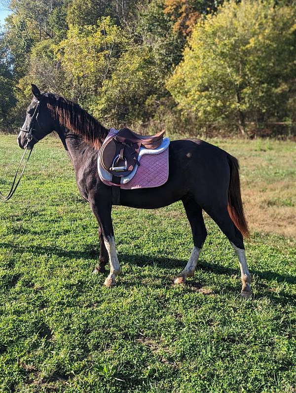
[(240, 180), (239, 180), (239, 164), (235, 157), (227, 154), (227, 160), (230, 168), (230, 181), (228, 187), (228, 206), (227, 210), (230, 218), (241, 231), (243, 236), (249, 237), (248, 224), (245, 218), (242, 197), (240, 192)]

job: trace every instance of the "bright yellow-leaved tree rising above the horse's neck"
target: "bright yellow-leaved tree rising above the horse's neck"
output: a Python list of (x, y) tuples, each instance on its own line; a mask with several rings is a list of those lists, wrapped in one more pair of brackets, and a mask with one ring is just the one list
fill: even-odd
[(110, 78), (126, 42), (110, 17), (102, 18), (95, 26), (71, 25), (67, 38), (56, 46), (68, 96), (90, 107), (104, 81)]

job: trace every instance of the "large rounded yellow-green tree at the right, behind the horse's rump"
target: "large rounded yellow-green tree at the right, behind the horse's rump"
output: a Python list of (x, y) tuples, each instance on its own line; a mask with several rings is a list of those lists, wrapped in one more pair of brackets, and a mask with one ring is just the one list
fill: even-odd
[(192, 33), (167, 87), (200, 123), (260, 123), (289, 116), (295, 96), (295, 8), (230, 1)]

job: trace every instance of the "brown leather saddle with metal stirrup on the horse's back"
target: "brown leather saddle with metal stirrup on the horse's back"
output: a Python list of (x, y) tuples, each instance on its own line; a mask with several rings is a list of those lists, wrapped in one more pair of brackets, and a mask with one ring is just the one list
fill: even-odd
[(151, 136), (134, 133), (122, 128), (113, 138), (103, 143), (100, 151), (100, 162), (112, 175), (112, 182), (120, 184), (120, 178), (129, 175), (136, 164), (140, 166), (138, 155), (140, 147), (157, 148), (163, 140), (164, 131)]

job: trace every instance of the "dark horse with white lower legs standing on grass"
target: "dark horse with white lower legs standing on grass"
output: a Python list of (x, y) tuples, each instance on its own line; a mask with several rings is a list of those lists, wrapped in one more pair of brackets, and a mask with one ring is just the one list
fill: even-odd
[[(56, 131), (74, 165), (76, 182), (99, 223), (100, 256), (94, 273), (105, 272), (110, 262), (110, 274), (105, 286), (115, 285), (120, 270), (115, 249), (111, 219), (111, 187), (102, 183), (97, 170), (98, 149), (109, 133), (94, 117), (78, 105), (55, 94), (41, 94), (32, 85), (33, 101), (18, 136), (18, 144), (32, 148), (35, 143)], [(120, 191), (123, 206), (156, 209), (182, 200), (189, 220), (193, 250), (175, 284), (184, 284), (194, 275), (198, 257), (207, 236), (202, 210), (207, 212), (227, 236), (239, 259), (242, 278), (241, 296), (252, 296), (243, 235), (248, 236), (244, 217), (239, 166), (236, 158), (222, 149), (201, 140), (173, 141), (169, 146), (169, 179), (156, 188)]]

